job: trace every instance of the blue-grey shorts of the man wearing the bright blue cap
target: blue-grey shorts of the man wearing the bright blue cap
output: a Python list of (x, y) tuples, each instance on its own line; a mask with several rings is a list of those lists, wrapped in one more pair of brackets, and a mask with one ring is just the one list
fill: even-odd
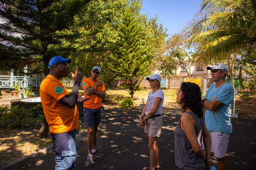
[(63, 133), (51, 133), (55, 151), (55, 170), (74, 169), (76, 163), (76, 129)]

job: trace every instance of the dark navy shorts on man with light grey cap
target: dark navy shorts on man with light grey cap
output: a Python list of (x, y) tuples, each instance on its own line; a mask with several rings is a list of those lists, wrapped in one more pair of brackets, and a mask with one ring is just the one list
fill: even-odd
[(95, 109), (84, 107), (83, 113), (84, 113), (84, 121), (85, 121), (86, 128), (92, 127), (95, 125), (100, 125), (103, 108), (104, 108), (103, 106)]

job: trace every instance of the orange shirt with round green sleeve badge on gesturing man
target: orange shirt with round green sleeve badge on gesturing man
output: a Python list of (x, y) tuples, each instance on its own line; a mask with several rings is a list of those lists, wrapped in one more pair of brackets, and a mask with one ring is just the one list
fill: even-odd
[(68, 132), (78, 128), (77, 106), (68, 108), (59, 102), (69, 93), (57, 78), (47, 75), (40, 84), (39, 92), (51, 133)]

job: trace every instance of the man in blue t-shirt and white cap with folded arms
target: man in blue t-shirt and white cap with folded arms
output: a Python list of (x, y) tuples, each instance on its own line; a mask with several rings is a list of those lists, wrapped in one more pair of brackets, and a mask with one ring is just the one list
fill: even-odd
[(205, 124), (211, 133), (211, 152), (217, 158), (218, 170), (228, 169), (226, 152), (229, 135), (232, 132), (230, 116), (234, 98), (234, 88), (226, 81), (228, 68), (225, 64), (217, 63), (211, 67), (212, 81), (215, 84), (207, 90), (203, 99)]

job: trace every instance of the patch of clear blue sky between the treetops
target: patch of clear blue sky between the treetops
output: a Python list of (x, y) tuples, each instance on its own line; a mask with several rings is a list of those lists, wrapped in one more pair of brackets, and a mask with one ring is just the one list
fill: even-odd
[(157, 23), (167, 28), (169, 35), (178, 33), (193, 15), (199, 11), (199, 4), (203, 0), (142, 0), (141, 12), (154, 18), (157, 14)]

